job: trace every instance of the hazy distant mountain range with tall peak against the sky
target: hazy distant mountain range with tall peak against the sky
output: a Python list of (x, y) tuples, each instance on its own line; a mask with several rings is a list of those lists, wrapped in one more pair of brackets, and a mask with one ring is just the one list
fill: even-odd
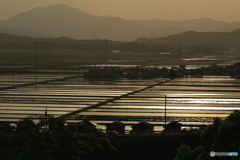
[(140, 37), (158, 38), (189, 30), (229, 32), (240, 22), (222, 22), (209, 18), (184, 21), (129, 20), (92, 15), (64, 4), (37, 7), (0, 20), (0, 32), (29, 37), (69, 37), (75, 39), (110, 39), (134, 41)]

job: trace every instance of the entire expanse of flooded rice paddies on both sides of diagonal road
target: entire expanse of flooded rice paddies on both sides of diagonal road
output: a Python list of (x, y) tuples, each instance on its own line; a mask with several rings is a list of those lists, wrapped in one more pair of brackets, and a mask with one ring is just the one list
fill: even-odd
[[(2, 74), (0, 88), (41, 82), (73, 74)], [(68, 78), (14, 89), (0, 90), (0, 121), (16, 122), (27, 116), (47, 114), (55, 117), (89, 107), (108, 99), (125, 95), (165, 81), (155, 79), (92, 79)], [(240, 110), (240, 79), (226, 76), (178, 78), (149, 89), (136, 92), (111, 103), (89, 109), (69, 117), (67, 122), (89, 119), (98, 127), (121, 120), (126, 129), (141, 120), (162, 130), (165, 103), (167, 121), (184, 125), (210, 124), (214, 117), (225, 118)]]

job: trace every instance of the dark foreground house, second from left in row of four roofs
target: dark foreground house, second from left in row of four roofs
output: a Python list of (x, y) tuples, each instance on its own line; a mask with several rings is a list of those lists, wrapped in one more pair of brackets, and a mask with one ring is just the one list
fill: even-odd
[(125, 133), (125, 125), (120, 121), (114, 121), (106, 125), (106, 133), (115, 132), (117, 134)]

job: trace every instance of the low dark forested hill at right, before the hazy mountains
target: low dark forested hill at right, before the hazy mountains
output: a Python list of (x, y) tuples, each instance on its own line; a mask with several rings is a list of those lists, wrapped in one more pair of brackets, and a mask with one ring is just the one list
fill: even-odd
[(178, 44), (183, 45), (223, 45), (228, 47), (240, 46), (240, 29), (233, 32), (196, 32), (188, 31), (163, 38), (139, 38), (135, 42), (144, 44)]

